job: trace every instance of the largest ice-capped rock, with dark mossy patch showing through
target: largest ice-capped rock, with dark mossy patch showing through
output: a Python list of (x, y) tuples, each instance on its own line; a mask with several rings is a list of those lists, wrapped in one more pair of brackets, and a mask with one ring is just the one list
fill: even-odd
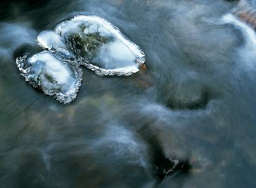
[(57, 25), (56, 31), (98, 75), (128, 76), (145, 62), (144, 52), (103, 18), (76, 16)]

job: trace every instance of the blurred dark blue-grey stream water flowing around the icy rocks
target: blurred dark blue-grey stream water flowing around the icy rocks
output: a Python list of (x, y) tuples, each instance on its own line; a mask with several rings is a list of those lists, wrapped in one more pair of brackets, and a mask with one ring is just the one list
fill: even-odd
[[(1, 2), (0, 187), (256, 187), (256, 43), (219, 22), (236, 3)], [(109, 78), (84, 68), (69, 105), (31, 88), (15, 58), (74, 15), (120, 28), (147, 71)], [(168, 158), (189, 168), (159, 177)]]

